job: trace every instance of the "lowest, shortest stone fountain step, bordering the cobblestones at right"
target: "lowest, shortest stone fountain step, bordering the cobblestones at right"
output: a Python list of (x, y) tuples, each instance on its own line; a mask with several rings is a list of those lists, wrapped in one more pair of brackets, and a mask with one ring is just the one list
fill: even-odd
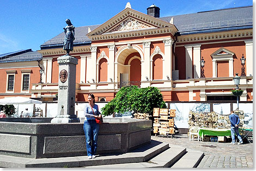
[(204, 157), (204, 152), (187, 149), (187, 153), (171, 168), (196, 168)]

